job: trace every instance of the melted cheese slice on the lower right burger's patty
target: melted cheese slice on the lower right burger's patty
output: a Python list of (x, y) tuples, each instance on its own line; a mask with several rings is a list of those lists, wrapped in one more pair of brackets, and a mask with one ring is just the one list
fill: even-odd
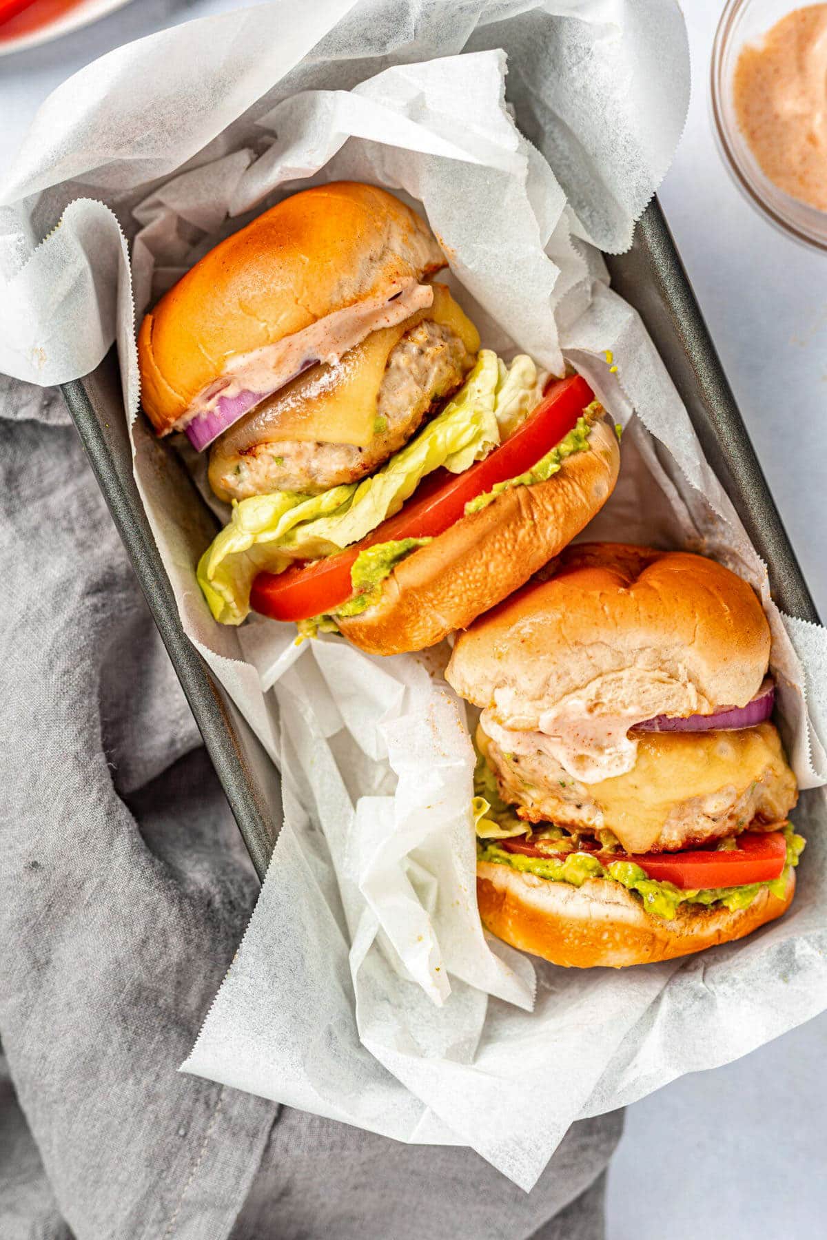
[[(670, 813), (684, 802), (715, 794), (735, 800), (767, 776), (779, 782), (784, 801), (779, 817), (784, 817), (795, 804), (795, 782), (772, 724), (738, 732), (641, 733), (634, 769), (589, 785), (589, 792), (603, 810), (604, 826), (626, 852), (641, 853), (650, 851)], [(692, 812), (691, 806), (686, 810)]]

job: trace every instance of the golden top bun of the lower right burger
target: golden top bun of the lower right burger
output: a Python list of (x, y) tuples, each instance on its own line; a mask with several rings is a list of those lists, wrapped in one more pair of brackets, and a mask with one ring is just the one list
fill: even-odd
[(745, 706), (770, 657), (751, 587), (712, 559), (622, 543), (568, 547), (461, 634), (446, 670), (503, 725), (537, 730), (575, 696), (583, 715), (710, 714)]

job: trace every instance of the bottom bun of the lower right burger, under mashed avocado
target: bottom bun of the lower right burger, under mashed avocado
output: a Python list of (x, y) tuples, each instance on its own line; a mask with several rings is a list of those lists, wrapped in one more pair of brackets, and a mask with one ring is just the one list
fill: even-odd
[(791, 869), (782, 897), (765, 887), (749, 908), (734, 911), (683, 904), (671, 921), (646, 913), (637, 897), (605, 878), (574, 887), (481, 862), (476, 887), (482, 924), (512, 947), (565, 968), (624, 968), (743, 939), (786, 913), (796, 877)]

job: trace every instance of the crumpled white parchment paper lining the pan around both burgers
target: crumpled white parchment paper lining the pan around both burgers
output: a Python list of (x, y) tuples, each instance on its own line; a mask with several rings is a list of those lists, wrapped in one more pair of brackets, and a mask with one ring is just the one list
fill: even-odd
[[(117, 330), (131, 414), (124, 231), (140, 311), (284, 192), (345, 176), (400, 191), (438, 232), (485, 342), (557, 371), (572, 361), (625, 427), (621, 480), (586, 536), (703, 551), (761, 593), (785, 740), (811, 789), (792, 911), (684, 962), (536, 965), (480, 929), (474, 759), (440, 676), (448, 647), (379, 660), (337, 639), (296, 646), (269, 621), (214, 625), (193, 577), (205, 512), (164, 489), (160, 449), (133, 424), (185, 627), (283, 775), (273, 863), (185, 1069), (398, 1140), (470, 1145), (526, 1189), (578, 1116), (827, 1006), (827, 635), (771, 604), (765, 567), (590, 244), (629, 244), (687, 89), (682, 22), (662, 0), (263, 5), (78, 74), (43, 107), (0, 206), (0, 366), (62, 381), (97, 365)], [(33, 249), (78, 192), (103, 202), (73, 202)]]

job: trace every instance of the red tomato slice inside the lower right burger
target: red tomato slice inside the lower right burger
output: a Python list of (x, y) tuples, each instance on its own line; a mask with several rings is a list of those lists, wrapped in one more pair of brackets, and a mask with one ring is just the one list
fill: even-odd
[[(565, 857), (565, 853), (546, 851), (520, 838), (503, 839), (502, 847), (524, 857)], [(738, 848), (727, 852), (698, 848), (674, 853), (595, 852), (591, 856), (604, 866), (613, 861), (631, 861), (658, 883), (673, 883), (687, 892), (702, 887), (744, 887), (777, 878), (784, 869), (787, 843), (780, 831), (745, 831), (738, 837)]]

